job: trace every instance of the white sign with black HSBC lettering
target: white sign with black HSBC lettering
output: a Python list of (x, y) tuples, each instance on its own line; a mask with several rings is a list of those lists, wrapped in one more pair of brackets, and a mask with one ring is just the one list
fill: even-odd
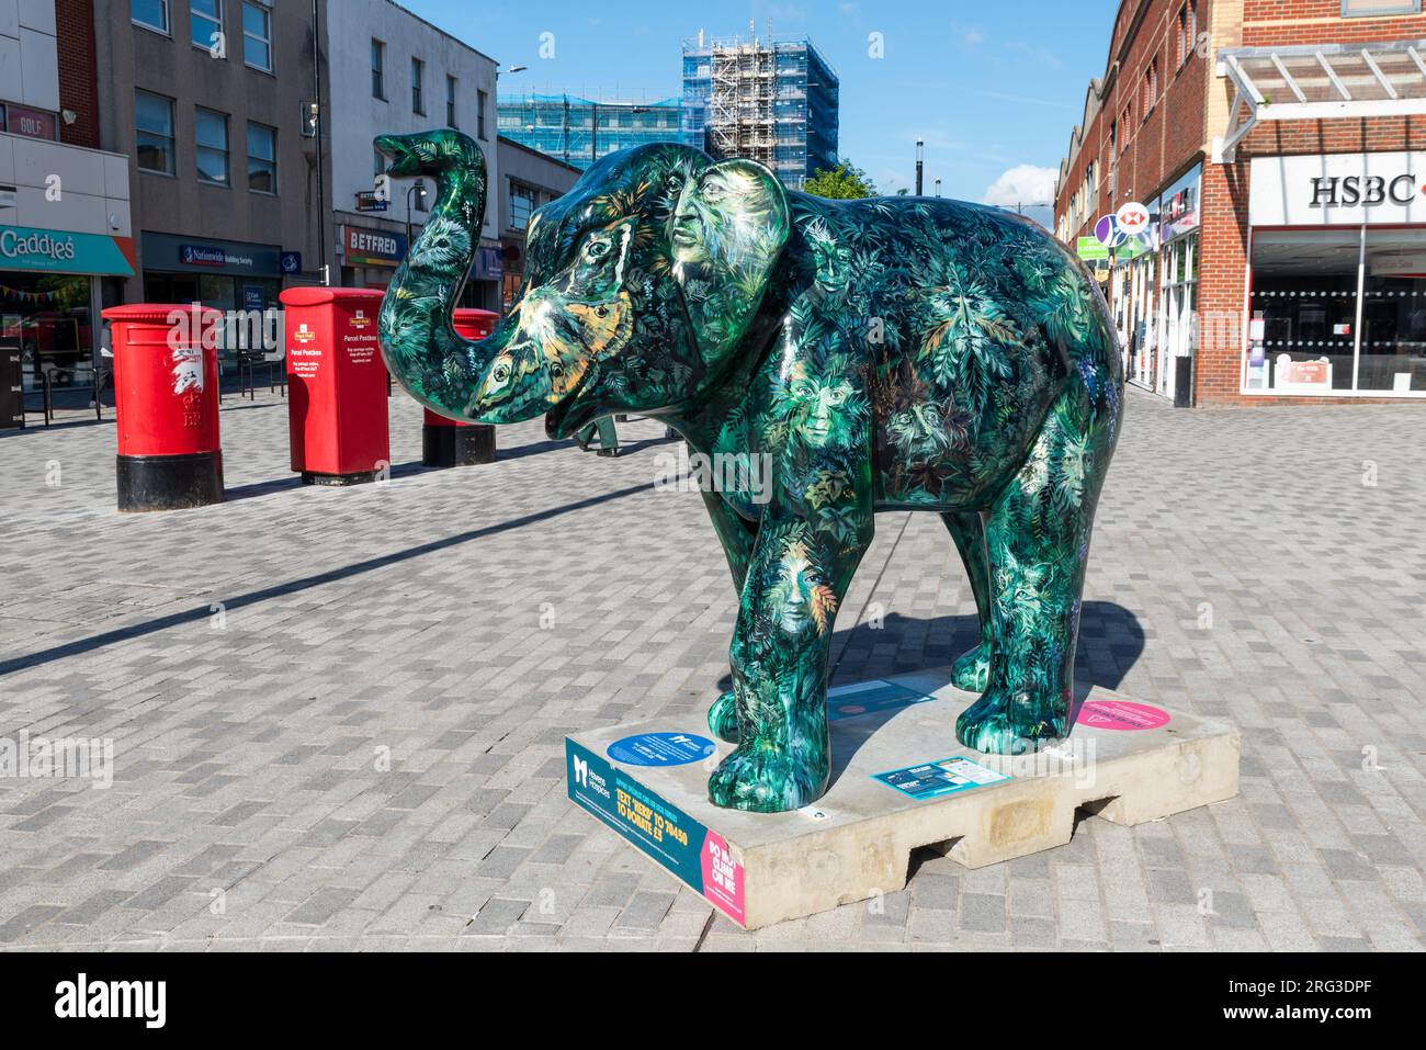
[(1255, 157), (1253, 225), (1426, 223), (1426, 153)]

